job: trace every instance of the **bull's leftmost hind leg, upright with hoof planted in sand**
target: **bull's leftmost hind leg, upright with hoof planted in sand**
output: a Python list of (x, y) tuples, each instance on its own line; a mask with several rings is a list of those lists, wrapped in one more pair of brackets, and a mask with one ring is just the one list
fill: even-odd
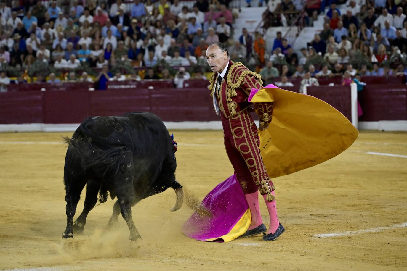
[(79, 197), (81, 196), (81, 192), (83, 187), (86, 184), (86, 180), (81, 179), (80, 181), (67, 181), (65, 180), (66, 184), (66, 230), (62, 234), (62, 238), (73, 238), (74, 234), (72, 231), (72, 221), (74, 219), (75, 211), (77, 204), (79, 202)]

